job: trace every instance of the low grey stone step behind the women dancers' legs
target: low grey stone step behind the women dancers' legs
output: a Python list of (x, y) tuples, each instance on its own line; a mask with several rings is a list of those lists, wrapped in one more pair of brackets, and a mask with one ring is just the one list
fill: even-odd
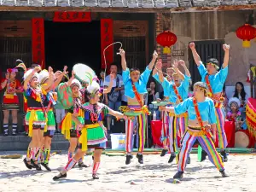
[[(0, 151), (19, 151), (26, 150), (31, 137), (27, 136), (0, 136)], [(111, 148), (111, 141), (108, 140), (108, 148)], [(69, 143), (61, 134), (54, 135), (51, 143), (52, 150), (67, 150)]]

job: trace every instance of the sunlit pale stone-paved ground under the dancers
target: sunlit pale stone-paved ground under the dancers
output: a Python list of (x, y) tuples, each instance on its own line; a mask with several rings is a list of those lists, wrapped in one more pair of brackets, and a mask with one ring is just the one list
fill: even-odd
[[(25, 153), (24, 153), (25, 154)], [(102, 155), (99, 180), (91, 179), (91, 167), (74, 168), (67, 179), (53, 181), (58, 169), (67, 161), (67, 154), (55, 154), (50, 161), (52, 172), (27, 170), (21, 159), (0, 159), (0, 191), (256, 191), (256, 155), (230, 155), (225, 164), (230, 177), (219, 177), (209, 160), (199, 163), (191, 154), (182, 183), (172, 183), (177, 166), (167, 164), (168, 156), (144, 155), (144, 165), (138, 166), (136, 158), (125, 166), (125, 157)], [(85, 157), (91, 164), (91, 156)]]

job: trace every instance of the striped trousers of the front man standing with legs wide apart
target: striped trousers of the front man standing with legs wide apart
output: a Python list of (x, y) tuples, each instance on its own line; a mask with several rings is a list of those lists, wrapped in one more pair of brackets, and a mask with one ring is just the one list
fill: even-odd
[(214, 143), (212, 142), (211, 136), (207, 134), (207, 135), (197, 137), (197, 136), (190, 135), (189, 131), (186, 131), (185, 135), (183, 136), (182, 147), (178, 154), (177, 171), (184, 172), (184, 169), (187, 164), (187, 159), (189, 157), (189, 151), (191, 151), (191, 148), (193, 147), (196, 139), (201, 144), (201, 147), (207, 152), (209, 160), (213, 163), (213, 165), (216, 166), (216, 168), (219, 171), (223, 171), (224, 164), (222, 162), (222, 158), (218, 154), (214, 146)]

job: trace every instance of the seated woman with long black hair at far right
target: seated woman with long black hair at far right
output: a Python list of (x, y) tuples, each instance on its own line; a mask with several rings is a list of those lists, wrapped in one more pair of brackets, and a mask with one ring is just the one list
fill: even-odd
[(247, 93), (244, 90), (244, 85), (241, 82), (236, 82), (234, 97), (240, 100), (241, 105), (239, 106), (239, 111), (244, 119), (246, 117), (246, 95)]

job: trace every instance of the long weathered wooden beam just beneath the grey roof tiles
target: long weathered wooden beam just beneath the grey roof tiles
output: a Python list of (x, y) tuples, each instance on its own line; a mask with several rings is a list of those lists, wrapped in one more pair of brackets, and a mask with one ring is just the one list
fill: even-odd
[(112, 13), (186, 13), (205, 11), (230, 11), (256, 9), (256, 4), (245, 5), (221, 5), (216, 7), (191, 7), (191, 8), (102, 8), (102, 7), (32, 7), (32, 6), (0, 6), (0, 11), (90, 11)]

